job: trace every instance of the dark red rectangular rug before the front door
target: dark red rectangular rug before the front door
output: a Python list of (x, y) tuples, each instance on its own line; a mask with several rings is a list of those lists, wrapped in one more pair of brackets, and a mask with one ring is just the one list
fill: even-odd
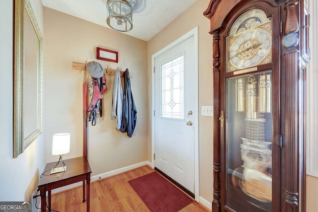
[(128, 182), (151, 212), (177, 212), (193, 202), (157, 172)]

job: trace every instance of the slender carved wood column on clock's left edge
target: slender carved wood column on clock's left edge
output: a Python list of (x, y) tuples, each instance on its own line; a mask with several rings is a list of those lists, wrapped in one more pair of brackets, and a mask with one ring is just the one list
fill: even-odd
[[(214, 117), (220, 117), (220, 34), (213, 32), (213, 84), (214, 84)], [(217, 86), (215, 86), (217, 85)], [(213, 119), (213, 203), (212, 211), (220, 212), (220, 121)]]

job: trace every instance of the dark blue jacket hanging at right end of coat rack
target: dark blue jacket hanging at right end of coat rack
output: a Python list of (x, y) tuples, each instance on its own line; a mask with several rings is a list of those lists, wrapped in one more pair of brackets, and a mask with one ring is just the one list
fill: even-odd
[(123, 100), (123, 116), (120, 131), (127, 132), (129, 138), (132, 137), (137, 121), (137, 109), (134, 97), (131, 92), (130, 75), (128, 69), (124, 72), (124, 100)]

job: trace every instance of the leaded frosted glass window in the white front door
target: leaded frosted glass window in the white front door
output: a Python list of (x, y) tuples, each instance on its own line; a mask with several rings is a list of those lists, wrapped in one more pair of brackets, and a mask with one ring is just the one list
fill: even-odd
[(163, 118), (184, 119), (183, 67), (183, 55), (161, 65), (161, 117)]

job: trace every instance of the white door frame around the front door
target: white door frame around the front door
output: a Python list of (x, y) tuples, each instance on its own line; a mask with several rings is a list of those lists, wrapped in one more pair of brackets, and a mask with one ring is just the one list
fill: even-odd
[(187, 32), (177, 40), (173, 41), (171, 44), (167, 45), (159, 52), (152, 55), (152, 168), (155, 168), (155, 161), (154, 161), (154, 153), (155, 153), (155, 117), (154, 117), (154, 110), (155, 110), (155, 58), (161, 55), (162, 53), (168, 51), (169, 49), (175, 47), (182, 41), (194, 36), (194, 195), (195, 201), (199, 202), (199, 195), (200, 195), (200, 178), (199, 178), (199, 93), (198, 93), (198, 26), (196, 26), (191, 31)]

